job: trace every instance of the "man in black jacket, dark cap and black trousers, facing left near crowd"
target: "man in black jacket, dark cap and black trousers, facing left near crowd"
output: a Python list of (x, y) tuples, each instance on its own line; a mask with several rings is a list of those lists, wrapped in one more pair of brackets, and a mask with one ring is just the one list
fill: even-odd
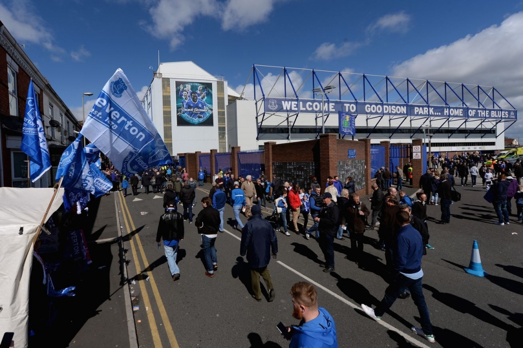
[(332, 194), (325, 192), (322, 195), (324, 207), (320, 215), (314, 218), (318, 222), (320, 230), (320, 248), (325, 257), (325, 269), (323, 272), (334, 271), (334, 237), (339, 227), (339, 208), (332, 200)]

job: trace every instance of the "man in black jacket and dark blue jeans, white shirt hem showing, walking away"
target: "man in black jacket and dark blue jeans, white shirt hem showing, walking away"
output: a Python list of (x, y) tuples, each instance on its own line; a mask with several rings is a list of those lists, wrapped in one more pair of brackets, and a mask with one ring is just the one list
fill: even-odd
[(205, 256), (207, 267), (205, 275), (212, 278), (214, 271), (218, 270), (214, 242), (216, 237), (218, 237), (218, 229), (220, 228), (220, 213), (212, 207), (212, 201), (207, 196), (201, 199), (201, 205), (203, 209), (196, 217), (196, 227), (198, 228), (198, 234), (201, 235), (203, 254)]

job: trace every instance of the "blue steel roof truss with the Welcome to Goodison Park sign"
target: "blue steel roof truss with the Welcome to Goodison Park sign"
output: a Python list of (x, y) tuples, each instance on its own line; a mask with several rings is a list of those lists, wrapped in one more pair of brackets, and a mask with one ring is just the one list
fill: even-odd
[[(269, 82), (269, 80), (260, 72), (260, 68), (268, 68), (268, 69), (281, 69), (279, 75), (278, 74), (272, 74), (272, 76), (278, 76), (274, 82)], [(467, 125), (469, 122), (479, 122), (479, 124), (474, 128), (476, 130), (478, 127), (481, 127), (485, 124), (485, 122), (493, 122), (494, 125), (490, 128), (490, 130), (493, 130), (499, 123), (501, 122), (510, 122), (510, 124), (505, 127), (505, 130), (501, 132), (500, 134), (496, 135), (496, 138), (503, 134), (508, 127), (513, 125), (517, 121), (517, 110), (516, 108), (501, 94), (495, 87), (485, 87), (480, 85), (465, 85), (465, 84), (457, 84), (457, 83), (448, 83), (448, 82), (439, 82), (439, 81), (431, 81), (431, 80), (417, 80), (417, 79), (411, 79), (411, 78), (402, 78), (402, 77), (390, 77), (390, 76), (380, 76), (380, 75), (366, 75), (366, 74), (356, 74), (356, 73), (350, 73), (350, 72), (332, 72), (332, 71), (322, 71), (322, 70), (315, 70), (315, 69), (304, 69), (304, 68), (289, 68), (289, 67), (279, 67), (279, 66), (267, 66), (267, 65), (256, 65), (253, 64), (253, 84), (254, 84), (254, 99), (256, 103), (256, 123), (258, 125), (258, 131), (256, 138), (258, 140), (261, 129), (264, 125), (264, 121), (267, 119), (269, 115), (275, 115), (279, 114), (280, 117), (282, 113), (285, 113), (287, 115), (287, 126), (289, 128), (289, 133), (287, 136), (287, 139), (290, 140), (290, 135), (292, 133), (292, 130), (294, 129), (294, 126), (296, 122), (298, 121), (298, 117), (301, 113), (315, 113), (315, 120), (316, 120), (316, 138), (319, 137), (322, 131), (321, 125), (318, 124), (317, 120), (319, 118), (323, 118), (323, 124), (325, 124), (331, 115), (331, 111), (333, 111), (332, 104), (336, 105), (338, 109), (341, 109), (339, 105), (342, 105), (343, 102), (350, 102), (354, 104), (355, 110), (344, 110), (347, 114), (354, 115), (355, 117), (358, 116), (358, 111), (362, 109), (362, 107), (366, 107), (367, 105), (373, 104), (373, 105), (381, 105), (381, 108), (376, 108), (376, 110), (381, 110), (376, 113), (370, 113), (360, 112), (360, 116), (365, 116), (367, 121), (367, 126), (372, 127), (372, 130), (367, 134), (367, 137), (370, 137), (376, 128), (381, 125), (382, 120), (384, 118), (389, 119), (389, 126), (391, 124), (392, 120), (399, 120), (402, 119), (400, 124), (395, 127), (395, 129), (391, 132), (389, 138), (392, 138), (392, 136), (397, 132), (397, 130), (404, 124), (406, 119), (410, 119), (411, 121), (415, 120), (428, 120), (429, 124), (431, 124), (433, 121), (441, 121), (444, 120), (444, 122), (436, 129), (435, 132), (439, 131), (441, 127), (445, 125), (450, 126), (450, 122), (453, 121), (461, 121), (461, 124), (457, 127), (456, 130), (454, 130), (448, 137), (452, 137), (454, 134), (457, 133), (457, 130), (462, 127), (463, 125)], [(303, 78), (302, 72), (308, 72), (309, 74)], [(291, 74), (290, 74), (291, 73)], [(297, 87), (295, 83), (293, 82), (293, 74), (298, 74), (301, 79), (302, 83), (301, 85)], [(321, 74), (333, 74), (330, 77), (322, 78)], [(262, 75), (262, 78), (260, 78), (260, 75)], [(312, 78), (311, 78), (312, 75)], [(268, 75), (267, 75), (268, 76)], [(283, 84), (282, 89), (279, 90), (279, 83), (280, 78), (283, 76)], [(373, 83), (371, 81), (372, 78), (381, 78), (381, 80), (378, 83)], [(394, 83), (393, 79), (395, 80), (401, 80), (401, 83)], [(312, 84), (311, 84), (312, 80)], [(416, 85), (414, 81), (417, 81), (419, 84)], [(271, 79), (272, 81), (272, 79)], [(350, 81), (350, 83), (349, 83)], [(381, 91), (383, 92), (383, 96), (380, 95), (380, 92), (378, 90), (379, 85), (384, 81), (384, 87), (381, 85)], [(352, 84), (351, 84), (352, 83)], [(311, 84), (312, 88), (309, 90), (306, 88), (307, 84)], [(337, 91), (337, 99), (329, 98), (328, 92), (324, 87), (324, 85), (333, 84), (335, 88), (338, 88)], [(438, 85), (439, 84), (439, 85)], [(271, 89), (266, 94), (266, 91), (264, 90), (263, 86), (270, 85)], [(288, 88), (288, 85), (291, 88)], [(400, 89), (399, 87), (403, 87)], [(310, 86), (310, 85), (309, 85)], [(312, 99), (309, 100), (316, 100), (318, 96), (323, 96), (323, 105), (319, 106), (321, 108), (321, 114), (318, 112), (320, 109), (314, 109), (316, 111), (311, 112), (311, 110), (306, 110), (302, 106), (301, 100), (310, 98), (310, 91), (316, 89), (316, 86), (319, 86), (321, 88), (322, 92), (312, 92)], [(392, 88), (390, 88), (391, 86)], [(454, 86), (454, 87), (452, 87)], [(471, 88), (469, 88), (469, 86)], [(303, 87), (303, 88), (302, 88)], [(327, 86), (328, 87), (328, 86)], [(472, 88), (474, 87), (474, 88)], [(292, 90), (292, 92), (291, 92)], [(459, 90), (459, 92), (458, 92)], [(473, 92), (475, 91), (475, 93)], [(300, 92), (301, 91), (301, 92)], [(358, 92), (359, 91), (359, 92)], [(422, 92), (423, 91), (423, 92)], [(347, 94), (348, 92), (348, 94)], [(292, 94), (291, 94), (292, 93)], [(368, 94), (373, 93), (375, 97), (372, 97), (370, 100), (368, 98)], [(391, 95), (393, 93), (394, 95)], [(256, 95), (261, 94), (261, 98), (259, 100), (256, 99)], [(301, 96), (300, 96), (301, 94)], [(350, 94), (350, 96), (349, 96)], [(497, 94), (497, 96), (496, 96)], [(344, 98), (345, 95), (345, 98)], [(393, 101), (391, 101), (391, 97), (394, 98), (394, 96), (397, 96), (397, 98)], [(349, 98), (347, 98), (349, 97)], [(292, 99), (293, 104), (297, 105), (297, 109), (295, 110), (287, 110), (287, 111), (276, 111), (272, 113), (268, 113), (266, 111), (266, 99), (267, 98), (275, 98), (275, 99), (281, 99), (281, 100), (289, 100)], [(392, 99), (393, 99), (392, 98)], [(483, 99), (483, 100), (482, 100)], [(297, 103), (294, 103), (294, 101), (297, 101)], [(492, 102), (492, 108), (486, 107), (485, 101), (488, 101), (489, 103)], [(403, 103), (402, 103), (403, 102)], [(337, 105), (338, 103), (339, 105)], [(303, 103), (304, 105), (305, 103)], [(487, 110), (495, 110), (496, 114), (501, 114), (500, 117), (491, 117), (488, 118), (487, 116), (483, 117), (477, 117), (477, 114), (475, 117), (471, 117), (471, 112), (473, 110), (469, 110), (469, 105), (477, 104), (477, 109), (487, 109)], [(317, 105), (317, 102), (316, 102)], [(343, 104), (344, 108), (347, 109), (348, 103)], [(386, 106), (407, 106), (406, 113), (404, 114), (393, 114), (392, 112), (385, 113), (384, 109)], [(503, 108), (502, 106), (506, 106)], [(440, 113), (436, 113), (435, 115), (429, 114), (429, 115), (422, 115), (422, 114), (415, 114), (415, 111), (411, 111), (414, 108), (413, 107), (419, 107), (419, 109), (433, 109), (434, 107), (439, 108), (447, 108), (445, 110), (445, 116), (438, 116)], [(448, 108), (466, 108), (463, 113), (459, 114), (450, 114), (448, 112)], [(469, 114), (467, 114), (467, 110), (469, 110)], [(452, 111), (452, 110), (450, 110)], [(504, 111), (510, 111), (511, 117), (504, 117)], [(337, 111), (336, 111), (337, 112)], [(488, 111), (487, 111), (488, 112)], [(492, 112), (494, 115), (494, 112)], [(259, 117), (261, 117), (261, 121), (259, 121)], [(291, 121), (292, 119), (292, 121)], [(370, 120), (378, 120), (376, 124), (369, 125)], [(374, 122), (372, 122), (374, 123)], [(415, 134), (418, 134), (419, 130), (422, 128), (425, 122), (422, 122), (422, 125), (420, 125), (417, 130), (411, 135), (411, 138), (415, 136)], [(412, 123), (411, 123), (412, 124)], [(491, 123), (492, 124), (492, 123)], [(465, 135), (465, 138), (469, 137), (469, 135), (472, 132), (469, 132), (467, 135)], [(483, 138), (485, 135), (482, 135)], [(344, 136), (342, 137), (344, 138)]]

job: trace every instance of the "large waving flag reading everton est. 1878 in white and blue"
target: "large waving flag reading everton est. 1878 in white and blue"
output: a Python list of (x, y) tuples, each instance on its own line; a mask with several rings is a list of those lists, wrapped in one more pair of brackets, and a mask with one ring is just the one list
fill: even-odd
[(121, 69), (108, 80), (82, 130), (127, 177), (173, 163), (162, 137)]

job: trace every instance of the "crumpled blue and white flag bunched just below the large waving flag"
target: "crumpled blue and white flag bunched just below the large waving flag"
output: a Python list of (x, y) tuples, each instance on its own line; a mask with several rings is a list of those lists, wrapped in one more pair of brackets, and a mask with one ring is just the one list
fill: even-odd
[(71, 191), (88, 191), (95, 197), (112, 189), (112, 182), (96, 167), (89, 164), (82, 149), (82, 135), (65, 149), (56, 169), (56, 180), (64, 177), (62, 187)]

